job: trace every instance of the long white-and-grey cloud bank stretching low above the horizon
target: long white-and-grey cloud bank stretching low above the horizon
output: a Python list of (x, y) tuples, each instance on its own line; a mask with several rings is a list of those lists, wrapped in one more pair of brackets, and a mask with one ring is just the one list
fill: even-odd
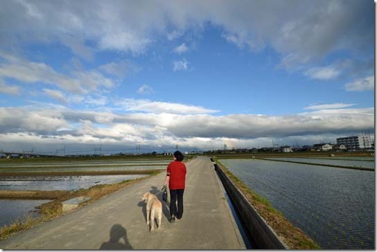
[[(166, 107), (166, 104), (150, 103), (151, 106)], [(261, 147), (269, 145), (271, 139), (282, 144), (297, 141), (300, 144), (313, 144), (319, 137), (335, 141), (335, 136), (373, 129), (374, 107), (320, 109), (292, 116), (212, 116), (158, 111), (124, 114), (124, 110), (122, 114), (114, 114), (111, 111), (73, 111), (53, 105), (0, 108), (1, 147), (30, 143), (28, 139), (35, 140), (32, 141), (34, 147), (44, 147), (50, 143), (71, 143), (78, 148), (89, 143), (124, 147), (137, 141), (143, 141), (143, 145), (150, 147), (173, 143), (192, 147), (219, 145), (222, 148), (224, 143), (229, 147)]]

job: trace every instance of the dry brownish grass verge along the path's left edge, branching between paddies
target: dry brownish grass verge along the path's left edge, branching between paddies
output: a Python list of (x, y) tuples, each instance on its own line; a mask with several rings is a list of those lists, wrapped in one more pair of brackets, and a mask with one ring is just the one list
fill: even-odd
[[(154, 176), (161, 172), (161, 170), (155, 170), (150, 175)], [(115, 192), (121, 188), (125, 188), (127, 186), (133, 185), (134, 183), (138, 183), (148, 177), (143, 177), (140, 179), (128, 180), (123, 181), (121, 183), (113, 183), (113, 184), (105, 184), (105, 185), (98, 185), (93, 186), (89, 189), (82, 189), (77, 191), (8, 191), (8, 199), (53, 199), (45, 204), (42, 204), (38, 208), (40, 208), (40, 218), (31, 218), (28, 217), (24, 222), (16, 221), (10, 225), (3, 226), (0, 228), (0, 240), (6, 239), (10, 235), (14, 233), (18, 233), (19, 231), (24, 231), (28, 228), (32, 228), (36, 224), (41, 222), (48, 222), (51, 219), (55, 219), (56, 217), (60, 217), (62, 215), (62, 201), (66, 201), (68, 199), (74, 197), (91, 197), (90, 201), (95, 201), (104, 195), (108, 195), (109, 193)], [(1, 191), (0, 191), (1, 192)], [(3, 192), (1, 192), (3, 193)], [(85, 203), (85, 204), (87, 204)]]

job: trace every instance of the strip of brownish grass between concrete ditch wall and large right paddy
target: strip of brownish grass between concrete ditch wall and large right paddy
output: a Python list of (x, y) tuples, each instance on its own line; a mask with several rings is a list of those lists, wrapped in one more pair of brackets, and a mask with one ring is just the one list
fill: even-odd
[(238, 179), (238, 177), (231, 173), (225, 165), (222, 165), (216, 158), (213, 159), (218, 163), (225, 174), (227, 174), (227, 177), (243, 192), (243, 195), (245, 195), (258, 214), (265, 219), (268, 225), (274, 229), (281, 240), (283, 240), (290, 249), (320, 249), (319, 245), (311, 240), (308, 235), (301, 231), (301, 229), (293, 226), (282, 213), (273, 208), (267, 199), (248, 188), (243, 181)]

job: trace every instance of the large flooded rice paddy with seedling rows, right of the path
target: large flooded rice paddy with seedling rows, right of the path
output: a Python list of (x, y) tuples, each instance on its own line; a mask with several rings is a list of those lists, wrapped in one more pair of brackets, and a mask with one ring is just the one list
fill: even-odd
[(250, 159), (222, 159), (323, 249), (374, 249), (374, 172)]

